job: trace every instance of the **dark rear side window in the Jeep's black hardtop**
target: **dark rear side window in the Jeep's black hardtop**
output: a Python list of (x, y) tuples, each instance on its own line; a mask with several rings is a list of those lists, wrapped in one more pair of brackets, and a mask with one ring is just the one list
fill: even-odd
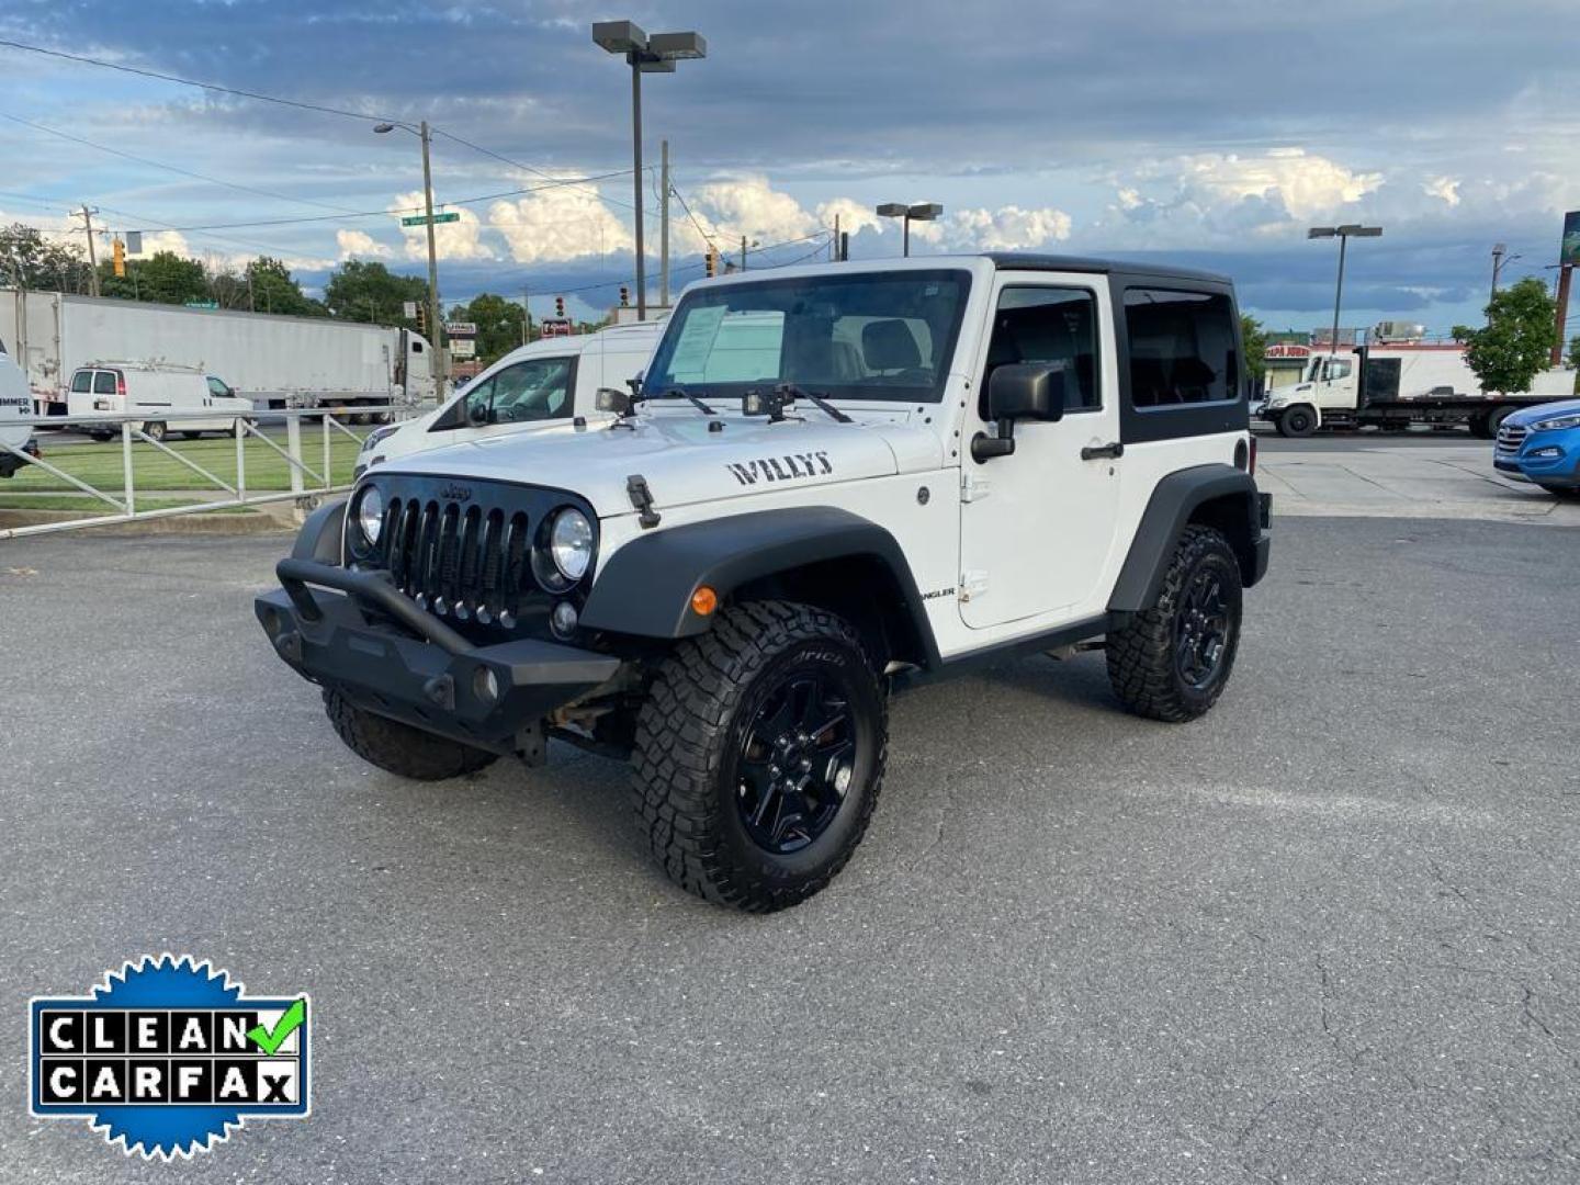
[(1215, 292), (1125, 292), (1130, 397), (1136, 408), (1232, 403), (1240, 395), (1234, 308)]

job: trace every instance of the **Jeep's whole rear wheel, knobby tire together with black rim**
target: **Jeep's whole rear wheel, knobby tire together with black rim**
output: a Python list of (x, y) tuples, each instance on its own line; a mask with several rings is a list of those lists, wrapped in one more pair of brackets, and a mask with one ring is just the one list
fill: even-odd
[(1212, 528), (1187, 526), (1157, 605), (1108, 635), (1114, 694), (1153, 720), (1180, 724), (1206, 713), (1234, 670), (1242, 599), (1229, 540)]

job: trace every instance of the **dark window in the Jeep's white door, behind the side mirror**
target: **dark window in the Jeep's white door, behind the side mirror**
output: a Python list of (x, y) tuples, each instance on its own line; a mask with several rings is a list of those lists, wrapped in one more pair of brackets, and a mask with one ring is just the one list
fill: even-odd
[(988, 419), (988, 384), (997, 367), (1046, 362), (1065, 370), (1065, 409), (1097, 411), (1097, 297), (1084, 288), (1006, 288), (999, 294), (988, 365), (976, 395)]

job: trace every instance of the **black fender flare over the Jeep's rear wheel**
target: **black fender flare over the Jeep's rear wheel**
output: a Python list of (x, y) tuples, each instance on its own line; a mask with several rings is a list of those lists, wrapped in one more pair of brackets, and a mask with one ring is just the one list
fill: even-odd
[(1232, 465), (1194, 465), (1153, 487), (1109, 596), (1109, 611), (1141, 613), (1157, 604), (1174, 545), (1191, 515), (1207, 502), (1217, 504), (1212, 525), (1229, 537), (1245, 586), (1261, 578), (1266, 561), (1258, 561), (1262, 531), (1256, 479)]

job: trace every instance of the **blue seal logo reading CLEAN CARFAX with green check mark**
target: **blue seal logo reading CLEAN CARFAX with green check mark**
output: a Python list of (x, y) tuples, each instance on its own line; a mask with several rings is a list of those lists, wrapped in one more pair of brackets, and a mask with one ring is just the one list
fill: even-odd
[(248, 1119), (311, 1106), (308, 997), (254, 997), (191, 956), (128, 962), (92, 995), (35, 997), (30, 1109), (81, 1115), (145, 1158), (191, 1157)]

